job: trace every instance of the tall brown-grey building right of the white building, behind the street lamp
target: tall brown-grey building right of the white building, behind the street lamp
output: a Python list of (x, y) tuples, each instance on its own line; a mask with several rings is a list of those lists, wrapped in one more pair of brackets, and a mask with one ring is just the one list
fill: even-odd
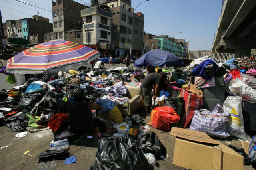
[[(141, 55), (143, 48), (144, 14), (134, 14), (131, 0), (92, 0), (92, 5), (107, 5), (113, 13), (111, 43), (119, 57), (130, 54), (132, 39), (132, 55)], [(133, 23), (133, 24), (132, 24)], [(132, 31), (133, 25), (133, 31)]]

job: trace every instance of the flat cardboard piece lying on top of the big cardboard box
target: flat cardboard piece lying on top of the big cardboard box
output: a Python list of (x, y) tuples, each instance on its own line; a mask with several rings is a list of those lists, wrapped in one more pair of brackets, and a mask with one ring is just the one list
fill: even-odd
[(217, 144), (217, 145), (219, 144), (218, 142), (210, 138), (210, 136), (208, 136), (206, 133), (198, 132), (195, 130), (172, 127), (170, 135), (176, 136), (179, 138), (188, 139), (188, 140), (193, 140), (196, 142), (203, 142), (203, 143), (210, 143), (210, 144)]

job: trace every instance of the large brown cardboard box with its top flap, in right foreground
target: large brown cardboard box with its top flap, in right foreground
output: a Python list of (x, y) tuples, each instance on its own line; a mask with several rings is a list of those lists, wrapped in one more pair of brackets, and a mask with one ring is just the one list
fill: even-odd
[(244, 157), (206, 133), (172, 128), (173, 164), (192, 170), (242, 170)]

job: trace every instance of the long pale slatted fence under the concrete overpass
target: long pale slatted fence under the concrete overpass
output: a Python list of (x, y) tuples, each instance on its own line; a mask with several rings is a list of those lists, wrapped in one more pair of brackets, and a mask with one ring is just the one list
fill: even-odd
[(220, 59), (231, 59), (231, 58), (241, 58), (241, 57), (250, 57), (250, 59), (252, 59), (253, 61), (256, 61), (256, 55), (252, 55), (252, 54), (230, 54), (230, 53), (212, 53), (209, 51), (192, 51), (189, 53), (188, 55), (188, 59), (197, 59), (197, 58), (201, 58), (204, 57), (206, 55), (210, 55), (215, 57), (216, 59), (220, 60)]

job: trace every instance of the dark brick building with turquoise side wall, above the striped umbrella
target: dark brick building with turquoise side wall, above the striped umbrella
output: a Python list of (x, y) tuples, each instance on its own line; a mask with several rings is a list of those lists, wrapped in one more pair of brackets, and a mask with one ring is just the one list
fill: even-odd
[(31, 44), (43, 43), (44, 33), (49, 32), (52, 32), (52, 23), (47, 22), (47, 20), (42, 20), (40, 16), (33, 16), (33, 19), (22, 19), (23, 38), (28, 40)]

